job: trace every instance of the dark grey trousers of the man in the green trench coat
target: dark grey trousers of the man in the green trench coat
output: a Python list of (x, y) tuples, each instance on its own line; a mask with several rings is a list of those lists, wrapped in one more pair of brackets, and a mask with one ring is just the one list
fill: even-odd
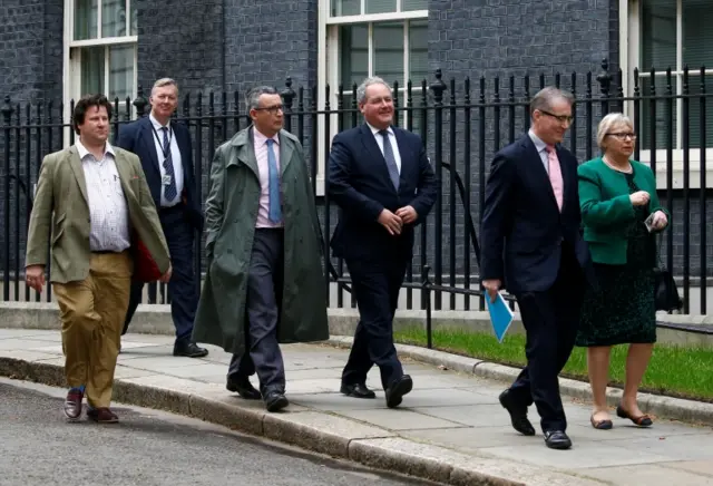
[(228, 379), (257, 372), (260, 390), (285, 391), (285, 367), (277, 343), (277, 317), (282, 302), (284, 233), (281, 229), (256, 229), (247, 276), (246, 352), (233, 354)]

